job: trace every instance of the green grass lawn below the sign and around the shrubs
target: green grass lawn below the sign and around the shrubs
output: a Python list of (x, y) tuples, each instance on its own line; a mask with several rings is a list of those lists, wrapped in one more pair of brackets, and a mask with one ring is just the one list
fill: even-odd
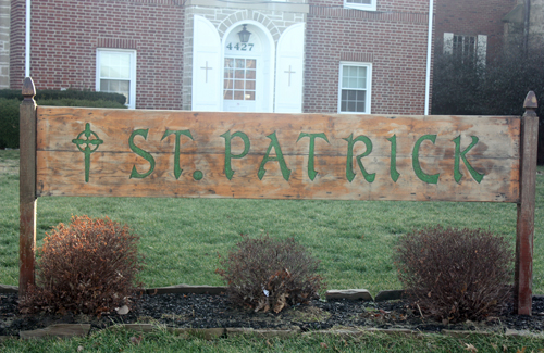
[[(542, 167), (539, 169), (544, 171)], [(533, 292), (544, 294), (543, 175), (536, 177), (536, 189)], [(0, 150), (0, 283), (17, 285), (18, 151)], [(507, 237), (512, 251), (516, 238), (516, 205), (495, 203), (40, 198), (37, 214), (38, 247), (46, 231), (61, 222), (69, 223), (72, 215), (107, 215), (113, 220), (128, 224), (134, 232), (141, 237), (140, 250), (146, 256), (143, 281), (146, 287), (177, 283), (223, 285), (214, 273), (219, 266), (218, 254), (225, 255), (239, 240), (240, 234), (294, 237), (321, 260), (321, 274), (329, 289), (366, 288), (373, 295), (380, 290), (400, 288), (391, 254), (396, 238), (410, 229), (436, 224), (491, 229)], [(123, 341), (119, 335), (122, 333), (102, 332), (84, 341)], [(178, 340), (166, 333), (158, 333), (158, 337), (157, 340)], [(154, 336), (150, 340), (156, 340)], [(287, 340), (284, 343), (274, 341), (274, 344), (293, 344), (285, 348), (276, 345), (275, 349), (258, 339), (249, 339), (244, 344), (248, 344), (247, 351), (321, 349), (319, 342), (299, 346), (299, 340)], [(392, 342), (403, 343), (399, 340), (383, 340), (386, 343), (380, 345), (382, 348)], [(446, 339), (431, 339), (434, 340)], [(423, 341), (425, 340), (415, 342)], [(454, 341), (459, 343), (459, 340)], [(334, 344), (341, 344), (338, 342), (341, 341)], [(230, 344), (223, 345), (222, 341), (209, 343), (193, 340), (190, 344), (195, 351), (234, 350), (230, 349)], [(357, 344), (360, 342), (355, 342), (349, 350), (360, 350), (361, 346), (357, 349)], [(432, 346), (434, 343), (429, 344)], [(489, 342), (486, 344), (492, 346)], [(38, 352), (39, 345), (35, 345)], [(63, 341), (49, 346), (49, 352), (54, 351), (53, 346), (59, 346), (59, 352), (73, 351), (77, 345), (77, 340)], [(236, 351), (239, 351), (240, 346), (246, 348), (235, 346), (238, 348)], [(459, 346), (459, 351), (463, 351), (465, 348)], [(8, 345), (5, 349), (2, 348), (2, 351), (10, 351)], [(135, 348), (124, 349), (131, 351)], [(344, 348), (342, 350), (344, 351)], [(346, 346), (346, 351), (349, 350)], [(426, 349), (423, 346), (413, 351), (421, 350)]]

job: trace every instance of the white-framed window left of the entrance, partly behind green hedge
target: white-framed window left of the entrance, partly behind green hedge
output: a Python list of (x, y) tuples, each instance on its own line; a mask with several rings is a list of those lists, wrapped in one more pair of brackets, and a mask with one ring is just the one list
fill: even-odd
[(136, 108), (136, 52), (98, 49), (96, 90), (121, 93), (128, 108)]

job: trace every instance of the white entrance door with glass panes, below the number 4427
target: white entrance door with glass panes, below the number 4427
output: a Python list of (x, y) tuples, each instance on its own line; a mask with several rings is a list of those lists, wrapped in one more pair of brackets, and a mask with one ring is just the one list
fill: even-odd
[(225, 58), (223, 110), (255, 112), (257, 99), (257, 59)]

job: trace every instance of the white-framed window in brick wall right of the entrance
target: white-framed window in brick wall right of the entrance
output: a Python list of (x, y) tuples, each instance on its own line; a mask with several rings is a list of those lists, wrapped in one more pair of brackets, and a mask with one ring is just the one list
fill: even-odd
[(338, 113), (370, 113), (372, 64), (341, 63)]

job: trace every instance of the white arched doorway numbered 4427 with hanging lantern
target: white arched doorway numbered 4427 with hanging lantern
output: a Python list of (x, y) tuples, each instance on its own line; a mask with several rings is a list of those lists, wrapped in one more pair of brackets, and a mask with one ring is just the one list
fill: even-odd
[[(250, 33), (242, 42), (239, 33)], [(225, 112), (272, 112), (274, 41), (260, 23), (242, 21), (223, 37), (223, 98)]]

